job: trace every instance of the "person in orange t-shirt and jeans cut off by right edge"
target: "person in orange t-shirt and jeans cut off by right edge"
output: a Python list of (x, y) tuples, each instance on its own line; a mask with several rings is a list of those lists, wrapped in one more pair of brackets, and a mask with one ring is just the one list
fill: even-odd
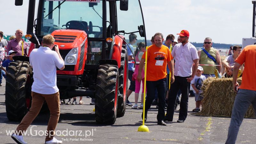
[[(233, 68), (233, 89), (236, 99), (232, 109), (231, 121), (228, 128), (228, 138), (226, 143), (235, 143), (239, 127), (244, 119), (244, 115), (252, 104), (256, 116), (256, 45), (248, 45), (236, 58)], [(244, 64), (241, 86), (237, 83), (237, 74), (240, 66)], [(239, 88), (237, 90), (237, 88)]]

